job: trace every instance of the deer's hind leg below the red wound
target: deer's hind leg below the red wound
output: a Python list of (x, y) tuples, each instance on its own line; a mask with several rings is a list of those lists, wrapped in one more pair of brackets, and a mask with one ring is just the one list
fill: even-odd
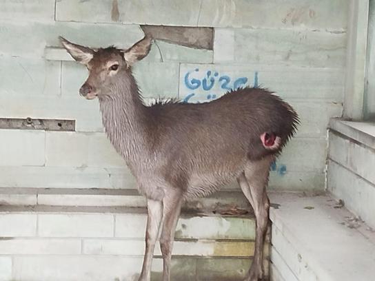
[(270, 209), (270, 200), (265, 188), (268, 183), (270, 165), (273, 160), (273, 157), (267, 157), (262, 160), (250, 162), (245, 171), (237, 179), (243, 194), (245, 194), (254, 209), (256, 218), (254, 258), (245, 281), (262, 280), (264, 274), (263, 243), (269, 220), (268, 211)]

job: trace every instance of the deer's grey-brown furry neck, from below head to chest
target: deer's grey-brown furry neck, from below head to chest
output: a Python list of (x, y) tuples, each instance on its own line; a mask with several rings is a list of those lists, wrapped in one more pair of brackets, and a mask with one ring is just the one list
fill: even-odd
[(131, 168), (147, 147), (148, 111), (131, 74), (99, 98), (105, 132), (116, 151)]

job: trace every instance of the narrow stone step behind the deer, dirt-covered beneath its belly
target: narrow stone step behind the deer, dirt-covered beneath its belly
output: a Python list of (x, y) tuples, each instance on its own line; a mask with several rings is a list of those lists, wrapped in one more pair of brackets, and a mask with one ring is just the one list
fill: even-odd
[[(136, 189), (0, 188), (1, 206), (145, 207)], [(221, 191), (185, 202), (185, 211), (246, 214), (251, 207), (241, 191)]]

